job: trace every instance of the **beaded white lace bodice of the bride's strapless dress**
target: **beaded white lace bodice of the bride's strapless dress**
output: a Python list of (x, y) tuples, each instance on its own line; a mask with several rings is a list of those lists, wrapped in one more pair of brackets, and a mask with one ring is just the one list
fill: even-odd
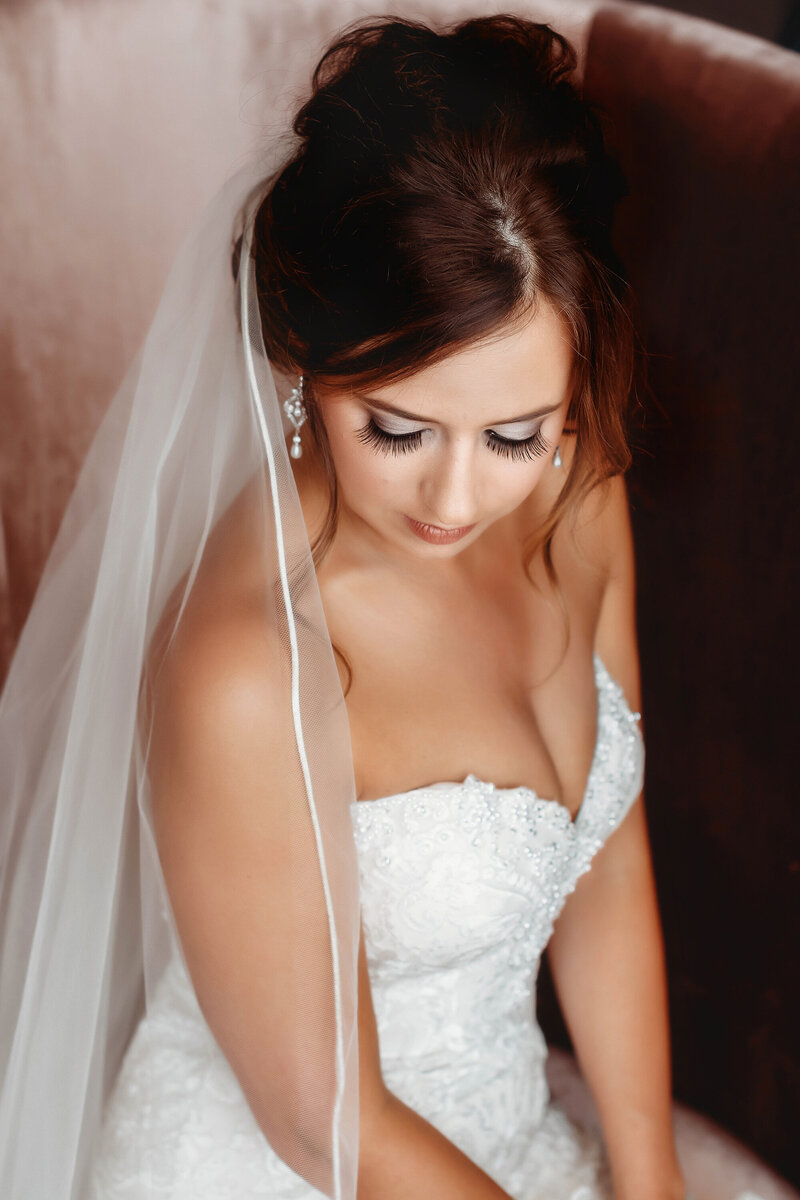
[[(597, 656), (595, 680), (597, 738), (575, 821), (528, 787), (474, 775), (354, 805), (386, 1084), (519, 1196), (533, 1178), (543, 1183), (557, 1150), (542, 1138), (539, 961), (567, 895), (642, 788), (639, 714)], [(576, 1157), (577, 1170), (571, 1127), (553, 1124), (561, 1168)], [(561, 1169), (555, 1177), (564, 1200)]]

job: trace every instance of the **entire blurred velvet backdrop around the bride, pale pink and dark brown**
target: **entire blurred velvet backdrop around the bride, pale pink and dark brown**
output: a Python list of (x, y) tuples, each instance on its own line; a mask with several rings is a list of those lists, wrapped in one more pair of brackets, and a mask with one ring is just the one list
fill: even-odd
[[(498, 11), (573, 40), (630, 184), (615, 240), (649, 373), (628, 485), (675, 1094), (800, 1184), (794, 0), (0, 0), (0, 683), (187, 227), (253, 152), (281, 154), (344, 24)], [(540, 1016), (569, 1046), (546, 976)]]

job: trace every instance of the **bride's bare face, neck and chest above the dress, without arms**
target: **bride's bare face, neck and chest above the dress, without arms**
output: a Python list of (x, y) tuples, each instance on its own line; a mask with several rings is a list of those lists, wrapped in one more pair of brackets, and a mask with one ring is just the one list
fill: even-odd
[[(570, 619), (566, 653), (563, 612), (541, 560), (533, 570), (540, 590), (522, 565), (523, 542), (570, 469), (575, 439), (563, 427), (571, 362), (558, 318), (540, 311), (533, 326), (402, 384), (372, 389), (441, 421), (427, 444), (397, 458), (361, 449), (353, 437), (369, 404), (324, 394), (339, 480), (355, 480), (350, 503), (342, 488), (339, 534), (318, 578), (333, 644), (353, 667), (347, 704), (359, 799), (473, 772), (501, 786), (527, 784), (572, 814), (581, 804), (596, 736), (591, 655), (607, 572), (597, 545), (602, 533), (557, 532), (553, 557)], [(487, 378), (488, 392), (480, 383)], [(551, 404), (558, 407), (542, 424), (547, 454), (516, 463), (486, 446), (485, 420)], [(539, 425), (504, 428), (495, 421), (493, 428), (528, 433)], [(557, 443), (561, 468), (552, 464)], [(295, 480), (313, 528), (324, 488), (309, 451)], [(450, 470), (461, 478), (445, 494), (427, 491), (431, 479), (438, 484)], [(390, 499), (379, 508), (372, 496), (381, 487)], [(428, 546), (396, 532), (395, 511), (411, 505), (420, 520), (476, 521), (477, 528), (463, 544)], [(593, 497), (578, 523), (591, 523), (601, 508), (602, 498)]]

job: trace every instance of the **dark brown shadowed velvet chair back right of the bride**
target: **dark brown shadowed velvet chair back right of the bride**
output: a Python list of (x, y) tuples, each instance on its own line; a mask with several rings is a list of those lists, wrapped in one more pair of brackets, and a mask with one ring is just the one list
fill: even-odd
[(800, 55), (607, 6), (585, 88), (649, 355), (628, 484), (675, 1092), (796, 1183)]

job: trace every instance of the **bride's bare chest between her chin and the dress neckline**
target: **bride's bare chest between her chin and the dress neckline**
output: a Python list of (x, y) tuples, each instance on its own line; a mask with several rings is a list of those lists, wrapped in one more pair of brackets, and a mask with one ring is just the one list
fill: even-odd
[(519, 559), (459, 587), (323, 587), (343, 673), (356, 794), (468, 774), (576, 812), (596, 740), (600, 581), (554, 546), (560, 598)]

